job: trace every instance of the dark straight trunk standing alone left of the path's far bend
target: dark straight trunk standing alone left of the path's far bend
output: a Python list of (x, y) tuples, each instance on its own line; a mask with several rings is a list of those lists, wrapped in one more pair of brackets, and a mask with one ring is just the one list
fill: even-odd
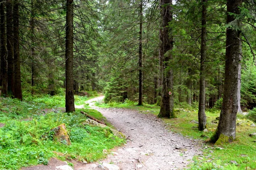
[(73, 0), (67, 0), (66, 14), (66, 112), (75, 111), (73, 78)]

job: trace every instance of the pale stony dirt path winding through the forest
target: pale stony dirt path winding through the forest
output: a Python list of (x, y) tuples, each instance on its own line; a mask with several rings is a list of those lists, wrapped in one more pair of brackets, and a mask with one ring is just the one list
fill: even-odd
[[(102, 170), (103, 163), (117, 165), (121, 170), (179, 170), (186, 168), (193, 156), (202, 154), (203, 141), (168, 131), (162, 119), (152, 114), (123, 108), (95, 107), (93, 102), (103, 97), (90, 99), (87, 102), (90, 107), (101, 112), (117, 130), (125, 134), (127, 143), (113, 149), (104, 160), (90, 164), (72, 162), (74, 170)], [(81, 108), (82, 105), (76, 107)], [(61, 170), (61, 168), (72, 170), (65, 162), (57, 159), (51, 159), (47, 166), (38, 165), (22, 170)]]

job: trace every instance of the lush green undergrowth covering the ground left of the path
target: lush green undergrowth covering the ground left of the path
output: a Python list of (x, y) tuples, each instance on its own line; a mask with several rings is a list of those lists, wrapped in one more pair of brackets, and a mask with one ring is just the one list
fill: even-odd
[[(96, 161), (109, 150), (123, 144), (109, 127), (86, 125), (84, 111), (101, 121), (105, 117), (93, 109), (75, 113), (43, 111), (45, 103), (19, 102), (0, 97), (0, 170), (17, 170), (35, 164), (47, 164), (51, 157), (69, 161)], [(53, 141), (51, 129), (65, 123), (71, 145)]]

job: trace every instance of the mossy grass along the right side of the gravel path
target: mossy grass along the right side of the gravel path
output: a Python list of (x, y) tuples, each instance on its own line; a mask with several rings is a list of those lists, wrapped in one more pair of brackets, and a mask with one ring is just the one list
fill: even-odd
[[(152, 113), (157, 116), (160, 111), (159, 106), (143, 105), (137, 106), (136, 102), (125, 103), (96, 103), (100, 107), (117, 107), (117, 108), (129, 108), (136, 109), (141, 113)], [(198, 124), (193, 120), (198, 121), (198, 110), (188, 105), (176, 105), (175, 119), (163, 119), (167, 124), (166, 128), (180, 133), (183, 136), (187, 136), (193, 139), (205, 140), (207, 137), (212, 136), (217, 127), (217, 124), (212, 123), (216, 121), (216, 117), (219, 116), (219, 110), (207, 110), (207, 129), (208, 132), (198, 131)], [(236, 138), (237, 140), (230, 144), (224, 144), (222, 146), (215, 146), (213, 144), (205, 144), (207, 148), (203, 149), (203, 156), (195, 156), (193, 158), (194, 163), (190, 164), (188, 169), (191, 170), (255, 170), (256, 169), (256, 137), (250, 137), (249, 134), (255, 133), (256, 128), (251, 127), (253, 123), (246, 119), (245, 116), (238, 115), (236, 126)], [(198, 157), (201, 157), (200, 159)], [(203, 158), (203, 159), (202, 159)], [(231, 163), (236, 161), (237, 164)]]

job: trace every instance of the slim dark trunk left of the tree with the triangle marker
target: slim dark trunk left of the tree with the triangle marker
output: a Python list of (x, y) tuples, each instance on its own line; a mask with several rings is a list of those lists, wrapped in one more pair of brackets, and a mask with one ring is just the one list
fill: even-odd
[(143, 22), (143, 10), (142, 10), (143, 0), (140, 2), (140, 32), (139, 32), (139, 103), (138, 105), (143, 105), (143, 73), (142, 73), (142, 22)]

